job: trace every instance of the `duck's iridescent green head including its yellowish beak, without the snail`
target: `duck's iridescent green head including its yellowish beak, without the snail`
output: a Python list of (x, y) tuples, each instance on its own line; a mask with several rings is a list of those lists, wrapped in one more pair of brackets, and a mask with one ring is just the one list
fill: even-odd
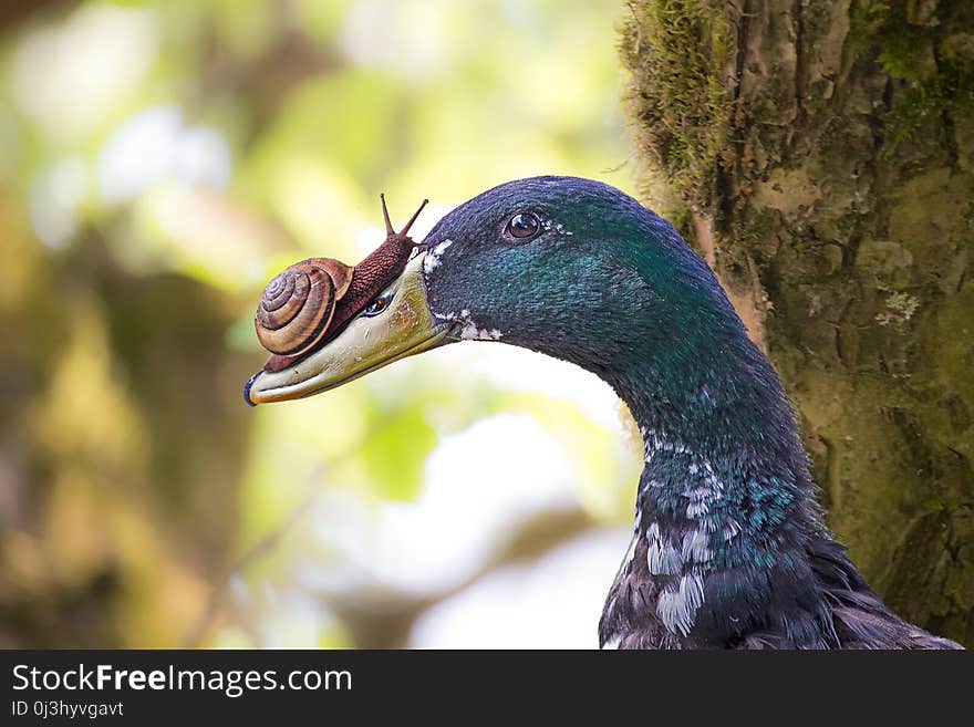
[(666, 221), (608, 185), (533, 177), (446, 215), (335, 335), (266, 366), (245, 398), (310, 396), (464, 340), (538, 351), (626, 390), (635, 370), (693, 368), (694, 341), (742, 332), (709, 268)]

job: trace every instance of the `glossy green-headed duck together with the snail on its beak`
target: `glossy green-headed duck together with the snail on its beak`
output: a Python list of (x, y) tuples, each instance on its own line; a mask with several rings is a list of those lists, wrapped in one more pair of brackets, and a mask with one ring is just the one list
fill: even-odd
[(666, 220), (563, 176), (494, 187), (418, 243), (412, 220), (395, 232), (384, 198), (383, 212), (386, 241), (360, 266), (312, 259), (268, 285), (258, 333), (291, 337), (269, 347), (248, 404), (312, 396), (459, 341), (570, 362), (612, 387), (643, 439), (600, 647), (962, 648), (894, 614), (850, 561), (778, 374)]

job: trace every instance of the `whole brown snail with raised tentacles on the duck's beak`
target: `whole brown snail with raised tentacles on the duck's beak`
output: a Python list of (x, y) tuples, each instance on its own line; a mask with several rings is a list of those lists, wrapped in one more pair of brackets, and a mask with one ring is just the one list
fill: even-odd
[(265, 371), (280, 371), (328, 341), (402, 272), (416, 246), (410, 228), (428, 200), (396, 232), (385, 195), (380, 199), (385, 241), (362, 262), (351, 267), (331, 258), (310, 258), (267, 284), (253, 320), (258, 340), (271, 353)]

